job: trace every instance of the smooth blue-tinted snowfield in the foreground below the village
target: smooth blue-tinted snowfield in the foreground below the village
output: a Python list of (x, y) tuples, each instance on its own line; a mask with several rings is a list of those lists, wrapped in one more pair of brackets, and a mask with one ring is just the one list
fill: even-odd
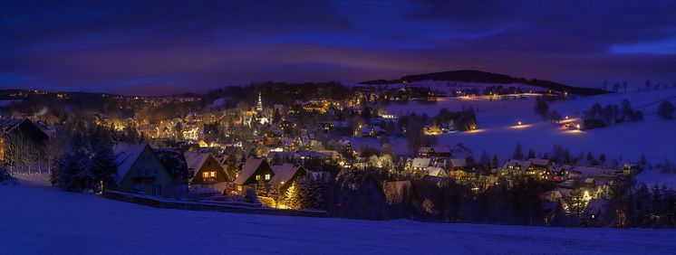
[(0, 185), (2, 254), (668, 254), (673, 230), (359, 221), (158, 209)]

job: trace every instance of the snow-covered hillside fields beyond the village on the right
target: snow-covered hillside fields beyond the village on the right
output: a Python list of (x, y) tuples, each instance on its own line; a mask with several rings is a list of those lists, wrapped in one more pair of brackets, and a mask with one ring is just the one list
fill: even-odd
[[(582, 99), (556, 101), (550, 110), (556, 109), (562, 116), (580, 118), (586, 109), (594, 103), (620, 105), (623, 99), (629, 99), (634, 109), (640, 109), (645, 118), (640, 122), (622, 123), (611, 127), (594, 130), (567, 130), (562, 125), (555, 125), (536, 116), (533, 106), (535, 98), (516, 100), (486, 99), (441, 99), (436, 103), (409, 101), (407, 103), (391, 103), (387, 106), (390, 113), (402, 115), (407, 112), (427, 113), (430, 117), (438, 114), (439, 109), (459, 110), (472, 107), (477, 111), (478, 130), (439, 136), (439, 144), (456, 145), (462, 143), (470, 147), (475, 158), (482, 151), (497, 154), (501, 160), (511, 157), (514, 147), (521, 143), (524, 151), (535, 149), (539, 153), (551, 153), (554, 145), (570, 149), (571, 155), (591, 151), (596, 158), (604, 153), (607, 158), (623, 161), (638, 161), (645, 153), (652, 165), (661, 165), (665, 158), (676, 163), (676, 119), (663, 120), (655, 112), (659, 103), (652, 102), (669, 99), (676, 104), (676, 89), (664, 89), (645, 92), (608, 94)], [(650, 105), (649, 105), (650, 104)], [(522, 126), (517, 126), (521, 121)], [(400, 154), (407, 154), (406, 140), (392, 138), (392, 146)], [(352, 138), (352, 146), (379, 146), (375, 139)], [(639, 180), (648, 184), (663, 183), (676, 187), (676, 175), (661, 175), (657, 169), (648, 169), (647, 175), (639, 176)]]

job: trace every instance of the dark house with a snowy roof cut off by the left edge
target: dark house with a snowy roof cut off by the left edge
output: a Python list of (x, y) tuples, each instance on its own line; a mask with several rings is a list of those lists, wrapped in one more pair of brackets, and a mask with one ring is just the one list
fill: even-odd
[(28, 118), (0, 118), (0, 160), (18, 150), (42, 149), (47, 140), (43, 129)]

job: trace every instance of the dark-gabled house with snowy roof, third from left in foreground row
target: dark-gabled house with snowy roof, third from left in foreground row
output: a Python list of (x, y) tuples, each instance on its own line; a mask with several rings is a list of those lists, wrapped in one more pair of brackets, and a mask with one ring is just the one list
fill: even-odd
[(237, 175), (233, 183), (236, 186), (237, 193), (244, 194), (247, 188), (256, 190), (260, 188), (259, 184), (267, 184), (274, 175), (275, 172), (267, 164), (265, 158), (249, 156), (246, 158), (246, 162), (242, 165), (242, 170), (239, 171), (239, 175)]

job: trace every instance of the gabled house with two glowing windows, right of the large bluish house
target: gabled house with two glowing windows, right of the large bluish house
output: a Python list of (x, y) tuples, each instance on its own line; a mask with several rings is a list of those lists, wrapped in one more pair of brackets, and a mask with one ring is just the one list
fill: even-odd
[(226, 172), (211, 154), (188, 151), (183, 156), (186, 157), (190, 173), (190, 187), (214, 188), (215, 184), (227, 182)]

